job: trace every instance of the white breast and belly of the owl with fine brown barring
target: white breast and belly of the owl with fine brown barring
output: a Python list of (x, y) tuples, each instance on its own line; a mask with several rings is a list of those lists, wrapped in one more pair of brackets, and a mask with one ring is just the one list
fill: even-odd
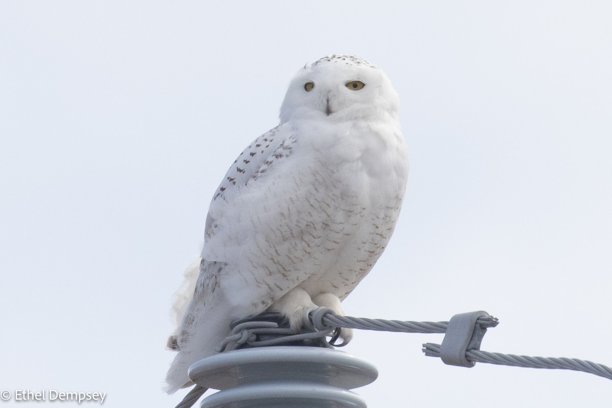
[(313, 133), (296, 138), (295, 166), (283, 174), (289, 183), (279, 192), (277, 229), (289, 245), (278, 258), (285, 273), (303, 278), (299, 287), (311, 296), (330, 292), (344, 299), (394, 231), (408, 157), (398, 127), (387, 124), (353, 122), (327, 132), (313, 132), (310, 124)]

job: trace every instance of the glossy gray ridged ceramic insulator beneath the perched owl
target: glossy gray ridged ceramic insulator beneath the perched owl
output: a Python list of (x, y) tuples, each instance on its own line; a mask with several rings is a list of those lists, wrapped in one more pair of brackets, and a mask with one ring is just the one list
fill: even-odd
[(220, 390), (203, 408), (365, 408), (349, 391), (373, 382), (376, 367), (362, 358), (321, 347), (256, 347), (196, 362), (189, 377)]

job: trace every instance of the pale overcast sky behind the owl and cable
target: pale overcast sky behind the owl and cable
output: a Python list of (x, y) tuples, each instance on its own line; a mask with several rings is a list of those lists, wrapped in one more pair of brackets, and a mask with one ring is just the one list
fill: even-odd
[[(611, 21), (607, 1), (1, 2), (0, 390), (182, 398), (161, 391), (168, 314), (212, 193), (331, 53), (386, 71), (411, 156), (347, 313), (486, 310), (483, 350), (611, 366)], [(370, 408), (610, 407), (610, 380), (445, 366), (420, 351), (441, 341), (357, 332), (344, 350), (380, 374), (355, 391)]]

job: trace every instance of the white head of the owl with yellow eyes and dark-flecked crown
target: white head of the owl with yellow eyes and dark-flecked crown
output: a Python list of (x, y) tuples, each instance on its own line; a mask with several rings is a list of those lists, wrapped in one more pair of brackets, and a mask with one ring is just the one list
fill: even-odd
[(352, 121), (397, 116), (398, 96), (383, 71), (355, 56), (332, 55), (294, 76), (280, 121)]

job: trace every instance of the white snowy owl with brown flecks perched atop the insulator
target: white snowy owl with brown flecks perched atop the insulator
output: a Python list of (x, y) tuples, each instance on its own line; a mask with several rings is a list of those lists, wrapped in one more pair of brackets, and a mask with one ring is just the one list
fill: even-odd
[[(185, 272), (168, 345), (170, 393), (217, 353), (235, 319), (341, 300), (381, 256), (408, 177), (398, 96), (381, 69), (330, 55), (297, 72), (280, 124), (242, 152), (215, 191), (201, 259)], [(343, 330), (345, 341), (350, 330)]]

